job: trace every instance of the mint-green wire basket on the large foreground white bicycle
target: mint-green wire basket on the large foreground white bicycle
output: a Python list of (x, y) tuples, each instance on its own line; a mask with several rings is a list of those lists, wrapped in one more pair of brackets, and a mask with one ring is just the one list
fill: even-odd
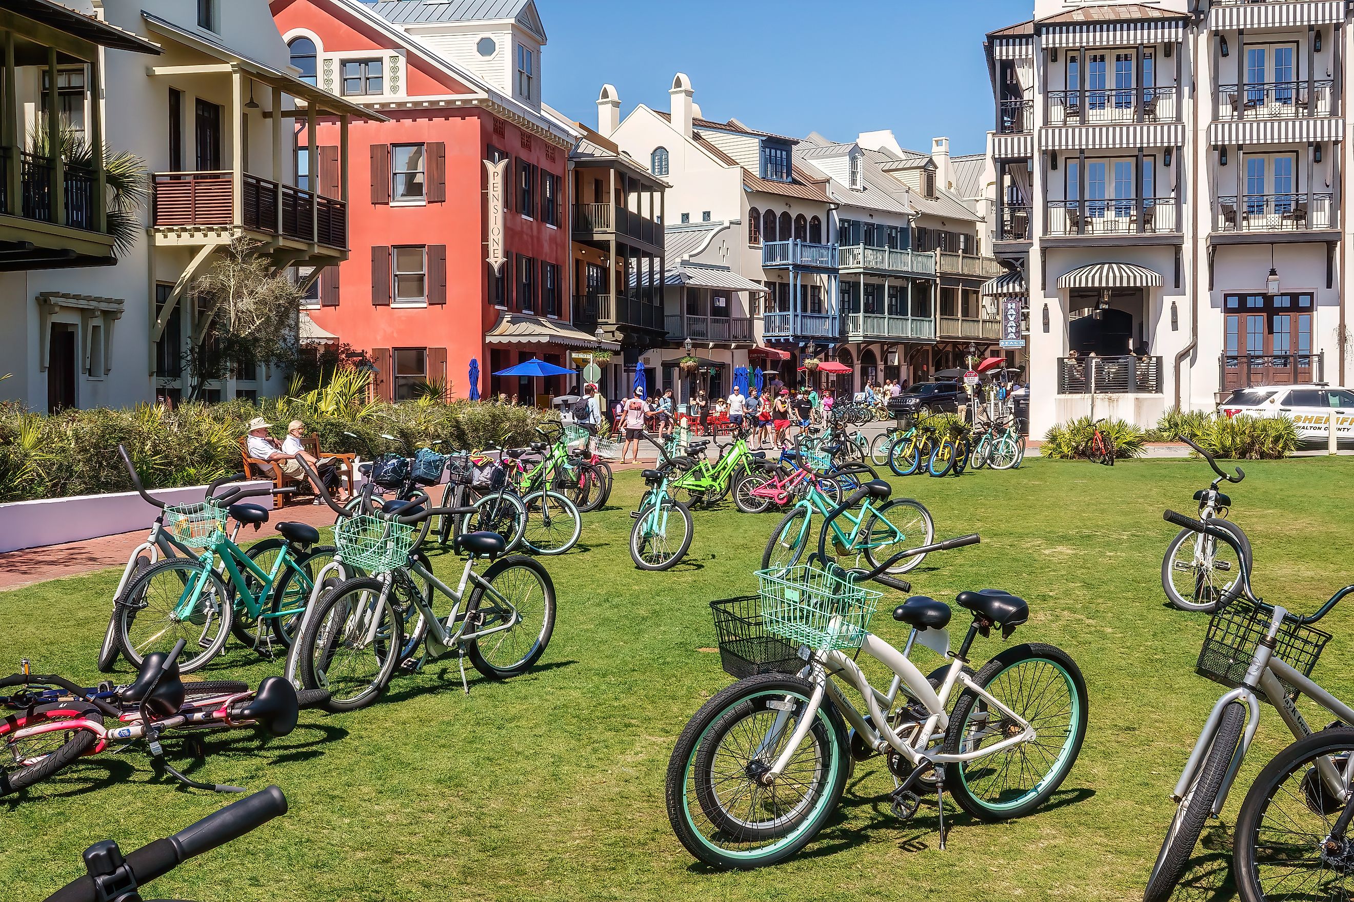
[(766, 630), (816, 652), (860, 648), (883, 592), (819, 567), (757, 571)]

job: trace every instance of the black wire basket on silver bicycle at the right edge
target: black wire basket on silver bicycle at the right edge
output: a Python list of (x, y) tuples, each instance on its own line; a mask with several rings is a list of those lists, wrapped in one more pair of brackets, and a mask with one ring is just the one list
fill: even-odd
[[(1269, 611), (1247, 599), (1238, 599), (1219, 610), (1208, 622), (1194, 671), (1223, 686), (1240, 686), (1255, 657), (1255, 645), (1269, 632), (1270, 617)], [(1304, 676), (1311, 676), (1316, 659), (1330, 640), (1330, 633), (1285, 619), (1275, 637), (1274, 655)], [(1288, 683), (1284, 683), (1284, 688), (1293, 691)], [(1265, 695), (1259, 691), (1257, 694), (1262, 698)]]

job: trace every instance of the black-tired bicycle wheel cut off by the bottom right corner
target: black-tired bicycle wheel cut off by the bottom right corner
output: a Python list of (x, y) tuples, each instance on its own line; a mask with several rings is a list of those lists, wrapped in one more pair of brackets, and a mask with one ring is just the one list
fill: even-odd
[[(1354, 730), (1322, 730), (1280, 752), (1255, 778), (1236, 817), (1232, 875), (1243, 902), (1349, 899), (1354, 875), (1346, 864), (1350, 836), (1332, 836), (1345, 807), (1322, 779), (1319, 759), (1343, 778), (1354, 755)], [(1343, 790), (1343, 787), (1340, 787)]]

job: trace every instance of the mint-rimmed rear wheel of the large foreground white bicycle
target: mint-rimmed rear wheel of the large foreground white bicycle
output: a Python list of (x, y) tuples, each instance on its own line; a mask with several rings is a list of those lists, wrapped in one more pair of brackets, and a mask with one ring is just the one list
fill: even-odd
[[(1086, 736), (1086, 680), (1062, 649), (1014, 645), (974, 678), (1032, 728), (1034, 738), (971, 761), (946, 765), (959, 806), (983, 821), (1024, 817), (1048, 801), (1076, 763)], [(945, 730), (945, 753), (964, 755), (1020, 734), (1009, 715), (964, 690)]]

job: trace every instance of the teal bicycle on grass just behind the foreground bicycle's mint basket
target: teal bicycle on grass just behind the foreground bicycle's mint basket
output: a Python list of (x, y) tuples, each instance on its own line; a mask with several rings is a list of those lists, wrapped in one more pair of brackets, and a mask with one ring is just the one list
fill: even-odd
[[(762, 569), (788, 571), (802, 563), (814, 538), (814, 518), (827, 517), (837, 507), (837, 499), (826, 495), (818, 485), (810, 483), (804, 498), (772, 530), (762, 552)], [(845, 521), (846, 526), (838, 525)], [(842, 511), (831, 521), (833, 542), (838, 554), (864, 556), (871, 569), (887, 561), (899, 550), (930, 545), (936, 536), (936, 523), (930, 511), (911, 498), (896, 498), (875, 507), (875, 498), (867, 496), (857, 510)], [(918, 564), (926, 553), (896, 561), (888, 573), (906, 573)]]

